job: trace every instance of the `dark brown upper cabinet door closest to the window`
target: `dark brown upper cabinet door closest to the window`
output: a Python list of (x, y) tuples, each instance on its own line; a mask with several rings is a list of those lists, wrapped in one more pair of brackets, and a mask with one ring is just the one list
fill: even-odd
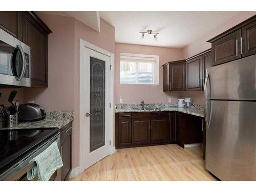
[(186, 91), (186, 62), (170, 64), (170, 91)]

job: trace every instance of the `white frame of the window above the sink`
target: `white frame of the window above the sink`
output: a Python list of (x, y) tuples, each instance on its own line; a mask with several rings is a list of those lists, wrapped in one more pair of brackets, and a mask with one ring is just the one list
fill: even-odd
[[(155, 67), (154, 67), (154, 77), (153, 77), (154, 83), (152, 83), (152, 84), (148, 84), (148, 83), (121, 83), (121, 78), (120, 78), (121, 70), (120, 70), (120, 68), (121, 68), (121, 57), (122, 56), (154, 58), (156, 60)], [(136, 65), (136, 72), (138, 72), (137, 68), (138, 68), (138, 65)], [(158, 85), (159, 84), (159, 55), (120, 53), (120, 56), (119, 56), (119, 83), (120, 84), (144, 84), (144, 85), (148, 85), (148, 86)]]

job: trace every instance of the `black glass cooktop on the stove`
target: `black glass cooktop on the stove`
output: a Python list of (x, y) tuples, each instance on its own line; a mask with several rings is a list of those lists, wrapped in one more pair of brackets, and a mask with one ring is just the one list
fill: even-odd
[(0, 130), (0, 173), (58, 131), (57, 128)]

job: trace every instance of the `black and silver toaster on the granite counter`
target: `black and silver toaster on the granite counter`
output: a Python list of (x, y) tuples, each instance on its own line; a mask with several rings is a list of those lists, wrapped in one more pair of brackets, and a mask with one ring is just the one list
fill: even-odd
[(39, 121), (46, 118), (45, 109), (35, 103), (26, 103), (19, 105), (19, 121)]

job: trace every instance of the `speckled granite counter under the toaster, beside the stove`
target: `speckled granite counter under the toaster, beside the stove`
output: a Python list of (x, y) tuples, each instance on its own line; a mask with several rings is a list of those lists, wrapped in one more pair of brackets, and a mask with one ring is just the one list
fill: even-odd
[(61, 128), (62, 126), (68, 124), (69, 122), (74, 120), (74, 111), (51, 111), (46, 112), (47, 117), (40, 121), (32, 121), (32, 122), (22, 122), (19, 123), (18, 126), (11, 128), (0, 128), (3, 129), (38, 129), (38, 128), (46, 128), (46, 127), (56, 127)]

